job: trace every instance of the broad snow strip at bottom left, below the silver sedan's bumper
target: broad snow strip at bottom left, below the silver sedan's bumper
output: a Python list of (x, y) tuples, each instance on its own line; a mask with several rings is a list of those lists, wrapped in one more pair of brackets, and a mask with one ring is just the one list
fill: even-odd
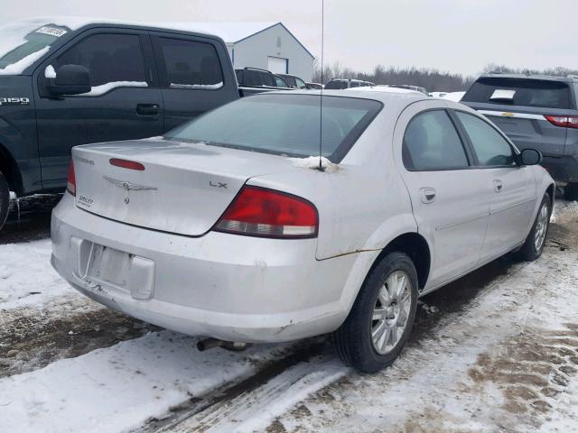
[(199, 352), (196, 339), (150, 333), (32, 373), (0, 380), (0, 431), (103, 432), (137, 428), (172, 406), (200, 397), (286, 346), (259, 345), (245, 353)]

